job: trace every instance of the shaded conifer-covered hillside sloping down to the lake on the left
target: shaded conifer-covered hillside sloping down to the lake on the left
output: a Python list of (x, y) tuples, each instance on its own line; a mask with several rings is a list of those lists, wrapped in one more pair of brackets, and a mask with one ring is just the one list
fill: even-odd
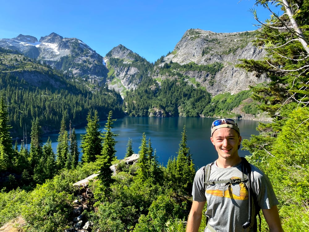
[(0, 50), (0, 70), (0, 96), (10, 105), (13, 137), (30, 132), (35, 119), (48, 132), (59, 130), (63, 115), (73, 126), (86, 123), (90, 110), (98, 110), (102, 119), (110, 110), (117, 117), (124, 115), (119, 93), (91, 86), (81, 77), (68, 76), (11, 50)]

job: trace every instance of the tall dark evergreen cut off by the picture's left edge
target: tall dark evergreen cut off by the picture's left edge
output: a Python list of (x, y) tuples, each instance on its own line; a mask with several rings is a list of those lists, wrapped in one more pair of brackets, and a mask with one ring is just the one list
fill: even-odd
[(0, 97), (0, 172), (12, 168), (12, 158), (15, 152), (12, 147), (10, 129), (7, 105), (5, 104), (4, 97)]

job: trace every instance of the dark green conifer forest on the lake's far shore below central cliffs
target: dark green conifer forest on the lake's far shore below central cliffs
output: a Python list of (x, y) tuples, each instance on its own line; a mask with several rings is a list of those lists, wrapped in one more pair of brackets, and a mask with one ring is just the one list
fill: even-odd
[(145, 88), (138, 87), (125, 95), (124, 106), (130, 116), (148, 116), (155, 108), (164, 116), (199, 117), (211, 99), (208, 92), (188, 85), (184, 79), (164, 79), (161, 88), (154, 82), (141, 86)]

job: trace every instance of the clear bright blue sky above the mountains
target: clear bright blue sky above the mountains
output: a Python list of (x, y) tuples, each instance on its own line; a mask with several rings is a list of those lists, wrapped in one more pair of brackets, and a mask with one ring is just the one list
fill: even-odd
[(23, 34), (39, 40), (55, 32), (82, 40), (102, 56), (122, 44), (155, 62), (172, 51), (190, 28), (223, 33), (257, 29), (249, 9), (255, 8), (263, 21), (270, 13), (254, 3), (254, 0), (2, 1), (0, 38)]

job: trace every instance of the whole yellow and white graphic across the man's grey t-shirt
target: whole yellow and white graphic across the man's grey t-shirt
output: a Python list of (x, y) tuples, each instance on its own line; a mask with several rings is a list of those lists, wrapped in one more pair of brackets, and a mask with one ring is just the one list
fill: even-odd
[[(239, 177), (232, 177), (231, 179), (239, 179)], [(235, 200), (247, 200), (249, 198), (248, 190), (243, 182), (228, 185), (225, 185), (224, 183), (208, 185), (206, 187), (206, 194)]]

